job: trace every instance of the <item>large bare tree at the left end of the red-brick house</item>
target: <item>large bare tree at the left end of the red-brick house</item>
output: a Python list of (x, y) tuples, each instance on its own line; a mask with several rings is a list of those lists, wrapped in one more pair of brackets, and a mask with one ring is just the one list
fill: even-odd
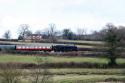
[(19, 27), (19, 37), (18, 39), (20, 40), (25, 40), (25, 38), (32, 34), (32, 32), (29, 30), (29, 25), (28, 24), (21, 24), (20, 27)]

